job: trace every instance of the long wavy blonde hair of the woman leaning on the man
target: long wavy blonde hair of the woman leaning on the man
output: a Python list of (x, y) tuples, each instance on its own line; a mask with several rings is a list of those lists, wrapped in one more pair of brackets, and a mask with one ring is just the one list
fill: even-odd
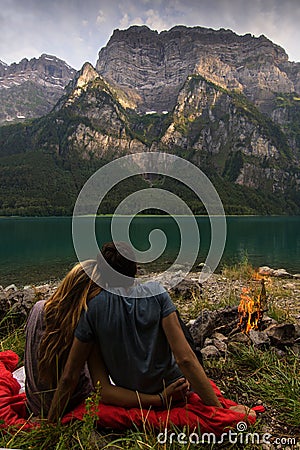
[(101, 288), (95, 278), (96, 261), (76, 264), (44, 306), (45, 332), (39, 347), (39, 380), (55, 388), (66, 363), (75, 328), (87, 302)]

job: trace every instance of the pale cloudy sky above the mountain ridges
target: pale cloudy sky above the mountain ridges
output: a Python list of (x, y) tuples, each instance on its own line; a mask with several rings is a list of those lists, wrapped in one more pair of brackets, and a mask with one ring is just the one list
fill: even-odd
[(175, 25), (264, 34), (300, 62), (300, 0), (0, 0), (0, 60), (55, 55), (96, 64), (113, 30)]

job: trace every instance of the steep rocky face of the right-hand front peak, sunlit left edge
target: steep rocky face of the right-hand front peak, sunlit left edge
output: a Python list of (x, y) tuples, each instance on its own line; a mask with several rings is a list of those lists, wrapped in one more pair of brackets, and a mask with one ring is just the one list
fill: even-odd
[(289, 182), (296, 186), (300, 181), (299, 174), (290, 177), (290, 149), (271, 120), (243, 96), (197, 75), (181, 89), (159, 146), (169, 152), (188, 151), (204, 170), (213, 168), (223, 178), (250, 188), (284, 192)]

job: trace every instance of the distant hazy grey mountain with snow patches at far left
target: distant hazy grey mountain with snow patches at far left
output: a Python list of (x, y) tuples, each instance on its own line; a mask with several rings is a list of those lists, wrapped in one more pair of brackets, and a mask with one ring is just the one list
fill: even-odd
[(0, 124), (21, 122), (51, 111), (76, 71), (55, 56), (0, 61)]

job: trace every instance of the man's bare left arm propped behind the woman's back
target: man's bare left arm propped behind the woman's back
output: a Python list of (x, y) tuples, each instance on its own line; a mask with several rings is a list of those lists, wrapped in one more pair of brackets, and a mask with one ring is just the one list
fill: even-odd
[(48, 413), (48, 420), (51, 422), (57, 422), (61, 418), (77, 386), (80, 372), (88, 359), (92, 346), (92, 342), (81, 342), (76, 337), (74, 338)]

